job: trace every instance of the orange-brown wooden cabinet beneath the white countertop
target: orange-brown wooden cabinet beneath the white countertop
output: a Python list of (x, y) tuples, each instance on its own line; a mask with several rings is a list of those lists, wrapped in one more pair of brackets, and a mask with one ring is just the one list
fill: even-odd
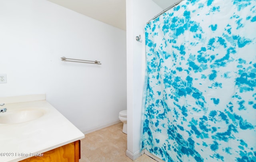
[(42, 156), (32, 156), (20, 162), (79, 162), (80, 140), (54, 148), (42, 153)]

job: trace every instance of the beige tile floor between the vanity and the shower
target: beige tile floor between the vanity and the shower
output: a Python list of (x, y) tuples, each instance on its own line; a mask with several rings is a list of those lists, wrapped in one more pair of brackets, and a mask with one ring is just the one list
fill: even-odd
[[(123, 123), (91, 132), (81, 140), (79, 162), (133, 162), (126, 156), (127, 134), (122, 132)], [(143, 154), (134, 162), (156, 162)]]

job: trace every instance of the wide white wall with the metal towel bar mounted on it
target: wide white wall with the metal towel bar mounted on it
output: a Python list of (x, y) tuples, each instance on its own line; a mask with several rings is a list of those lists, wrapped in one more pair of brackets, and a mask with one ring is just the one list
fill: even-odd
[(46, 93), (81, 131), (105, 126), (126, 109), (126, 32), (47, 0), (0, 0), (0, 73), (1, 97)]

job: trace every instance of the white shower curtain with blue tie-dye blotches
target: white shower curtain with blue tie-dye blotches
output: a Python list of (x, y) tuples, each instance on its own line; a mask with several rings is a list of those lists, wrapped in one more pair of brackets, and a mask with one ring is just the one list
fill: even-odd
[(145, 30), (141, 148), (256, 162), (256, 0), (184, 0)]

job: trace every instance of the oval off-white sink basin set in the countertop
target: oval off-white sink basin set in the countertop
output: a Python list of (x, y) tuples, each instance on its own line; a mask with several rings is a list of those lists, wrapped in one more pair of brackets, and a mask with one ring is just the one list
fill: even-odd
[(40, 108), (28, 108), (6, 111), (0, 114), (0, 124), (15, 124), (32, 121), (42, 117), (45, 111)]

